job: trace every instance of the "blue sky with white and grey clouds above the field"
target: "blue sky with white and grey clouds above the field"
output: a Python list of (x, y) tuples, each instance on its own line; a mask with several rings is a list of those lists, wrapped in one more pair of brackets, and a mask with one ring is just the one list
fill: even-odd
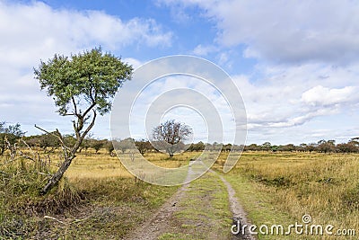
[[(41, 134), (34, 124), (71, 133), (71, 120), (40, 91), (33, 67), (56, 53), (101, 46), (135, 68), (171, 55), (222, 67), (246, 108), (247, 144), (340, 143), (359, 136), (357, 1), (0, 0), (0, 32), (0, 120), (19, 122), (27, 135)], [(162, 79), (144, 95), (194, 81), (180, 79)], [(118, 93), (126, 88), (130, 84)], [(215, 96), (207, 95), (227, 116), (226, 102)], [(198, 129), (196, 140), (206, 139), (196, 111), (171, 114)], [(94, 138), (109, 138), (109, 118), (99, 118)], [(225, 136), (231, 124), (231, 116), (223, 117)]]

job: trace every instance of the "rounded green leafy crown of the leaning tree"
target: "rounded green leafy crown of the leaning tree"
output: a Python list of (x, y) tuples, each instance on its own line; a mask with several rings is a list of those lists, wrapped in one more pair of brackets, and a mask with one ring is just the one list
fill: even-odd
[(78, 105), (83, 100), (88, 106), (96, 105), (101, 115), (109, 112), (110, 99), (130, 78), (131, 72), (132, 67), (109, 53), (102, 54), (101, 48), (70, 58), (55, 55), (34, 69), (41, 90), (47, 89), (61, 115), (69, 113), (70, 104)]

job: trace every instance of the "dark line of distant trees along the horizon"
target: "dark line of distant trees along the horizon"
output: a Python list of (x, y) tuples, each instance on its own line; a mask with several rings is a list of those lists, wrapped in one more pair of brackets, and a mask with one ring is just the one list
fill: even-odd
[[(0, 155), (4, 155), (4, 151), (13, 146), (14, 144), (20, 143), (19, 140), (22, 139), (28, 147), (37, 147), (43, 153), (52, 153), (56, 149), (61, 147), (59, 139), (54, 135), (54, 132), (45, 133), (41, 135), (25, 136), (25, 132), (22, 131), (21, 125), (19, 123), (9, 125), (4, 121), (0, 122)], [(73, 145), (76, 141), (73, 135), (64, 135), (64, 143), (66, 145)], [(136, 144), (136, 148), (141, 154), (146, 154), (149, 152), (156, 152), (157, 149), (153, 147), (153, 144), (149, 140), (145, 139), (132, 139), (126, 138), (122, 140), (114, 140), (114, 144), (122, 153), (127, 152), (131, 146), (128, 140), (132, 140)], [(88, 149), (92, 148), (95, 154), (99, 153), (101, 149), (106, 149), (110, 156), (115, 156), (113, 142), (109, 139), (99, 139), (99, 138), (84, 138), (82, 144), (80, 145), (78, 152), (88, 153)], [(351, 138), (346, 143), (336, 144), (335, 140), (325, 140), (322, 139), (316, 143), (302, 143), (300, 145), (272, 145), (270, 142), (265, 142), (263, 144), (250, 144), (247, 146), (239, 146), (232, 144), (221, 144), (221, 143), (204, 143), (199, 141), (197, 143), (183, 144), (185, 149), (188, 152), (197, 152), (212, 150), (223, 152), (228, 151), (268, 151), (268, 152), (320, 152), (320, 153), (359, 153), (359, 138)]]

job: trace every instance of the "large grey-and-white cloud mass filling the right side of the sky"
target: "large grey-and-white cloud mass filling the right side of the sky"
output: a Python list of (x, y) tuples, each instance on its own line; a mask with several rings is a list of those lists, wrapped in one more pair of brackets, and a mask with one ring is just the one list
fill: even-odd
[[(217, 38), (213, 45), (223, 54), (218, 54), (217, 62), (239, 60), (226, 56), (228, 49), (243, 50), (244, 58), (257, 60), (256, 66), (250, 64), (249, 76), (233, 76), (246, 104), (249, 139), (283, 143), (302, 138), (308, 142), (315, 138), (311, 133), (321, 128), (331, 129), (322, 137), (344, 139), (341, 130), (355, 134), (350, 129), (359, 110), (358, 2), (159, 2), (188, 13), (199, 9), (197, 14), (214, 22)], [(207, 52), (199, 48), (202, 45), (197, 47)]]

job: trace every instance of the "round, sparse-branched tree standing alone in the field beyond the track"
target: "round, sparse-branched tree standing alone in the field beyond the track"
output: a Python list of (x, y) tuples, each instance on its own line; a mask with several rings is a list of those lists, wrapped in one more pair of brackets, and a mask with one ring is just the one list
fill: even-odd
[(183, 141), (187, 140), (190, 134), (192, 130), (188, 125), (167, 120), (153, 129), (152, 139), (154, 147), (166, 151), (172, 157), (174, 153), (183, 150)]

